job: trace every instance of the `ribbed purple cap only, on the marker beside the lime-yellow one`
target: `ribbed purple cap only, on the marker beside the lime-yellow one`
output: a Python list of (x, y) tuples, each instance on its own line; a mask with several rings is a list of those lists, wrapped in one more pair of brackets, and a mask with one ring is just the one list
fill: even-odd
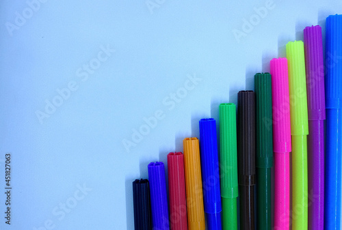
[(306, 68), (306, 91), (308, 95), (308, 119), (326, 119), (324, 94), (324, 64), (321, 27), (304, 29), (304, 52)]

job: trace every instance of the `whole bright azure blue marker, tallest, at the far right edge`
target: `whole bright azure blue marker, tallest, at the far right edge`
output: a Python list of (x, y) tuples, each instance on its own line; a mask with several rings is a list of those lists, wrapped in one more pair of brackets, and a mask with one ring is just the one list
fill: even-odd
[(342, 15), (326, 18), (326, 178), (324, 229), (341, 229)]

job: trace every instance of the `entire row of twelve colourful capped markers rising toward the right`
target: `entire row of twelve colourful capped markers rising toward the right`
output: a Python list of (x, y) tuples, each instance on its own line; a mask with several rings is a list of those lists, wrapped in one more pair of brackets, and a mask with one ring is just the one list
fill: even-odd
[(220, 151), (209, 118), (184, 154), (168, 154), (169, 205), (163, 162), (148, 164), (148, 179), (133, 182), (135, 230), (202, 230), (205, 219), (209, 230), (237, 229), (237, 197), (240, 229), (340, 229), (342, 15), (326, 19), (325, 66), (318, 25), (286, 53), (255, 74), (254, 91), (239, 91), (237, 108), (220, 104)]

